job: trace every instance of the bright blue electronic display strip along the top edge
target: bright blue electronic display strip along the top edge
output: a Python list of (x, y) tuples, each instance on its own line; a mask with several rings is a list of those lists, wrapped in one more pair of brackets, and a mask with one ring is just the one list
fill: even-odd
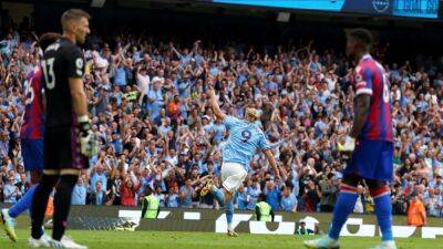
[(439, 18), (439, 0), (213, 0), (213, 2), (403, 18)]

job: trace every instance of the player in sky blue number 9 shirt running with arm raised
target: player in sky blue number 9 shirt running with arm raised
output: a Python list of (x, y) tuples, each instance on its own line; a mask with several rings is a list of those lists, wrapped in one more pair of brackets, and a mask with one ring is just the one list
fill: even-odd
[(212, 87), (208, 90), (209, 105), (218, 120), (223, 121), (229, 132), (226, 145), (223, 148), (222, 165), (222, 188), (215, 187), (212, 180), (206, 181), (202, 190), (202, 196), (212, 193), (220, 207), (225, 208), (227, 220), (227, 234), (230, 237), (238, 236), (234, 231), (234, 203), (233, 197), (237, 188), (246, 178), (246, 168), (257, 149), (261, 149), (270, 166), (276, 174), (276, 180), (280, 178), (279, 169), (275, 160), (271, 145), (265, 137), (264, 132), (255, 122), (259, 118), (259, 113), (255, 108), (246, 108), (245, 120), (238, 120), (224, 114), (218, 106), (215, 92)]

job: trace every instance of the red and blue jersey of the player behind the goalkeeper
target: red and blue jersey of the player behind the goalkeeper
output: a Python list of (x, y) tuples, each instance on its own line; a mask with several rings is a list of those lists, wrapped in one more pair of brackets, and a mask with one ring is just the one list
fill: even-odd
[(43, 114), (43, 74), (40, 66), (27, 75), (24, 82), (24, 115), (20, 137), (27, 139), (42, 139), (44, 129)]

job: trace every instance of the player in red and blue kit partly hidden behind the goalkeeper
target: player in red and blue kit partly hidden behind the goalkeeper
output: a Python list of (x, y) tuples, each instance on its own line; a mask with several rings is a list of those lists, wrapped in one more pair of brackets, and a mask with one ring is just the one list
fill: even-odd
[[(58, 33), (45, 33), (40, 38), (39, 46), (44, 51), (59, 38), (60, 34)], [(21, 154), (24, 168), (31, 174), (32, 186), (10, 209), (1, 210), (4, 230), (12, 241), (17, 241), (14, 231), (16, 217), (31, 208), (32, 196), (43, 172), (44, 111), (42, 92), (43, 75), (41, 68), (38, 65), (28, 73), (27, 81), (24, 82), (25, 110), (20, 129)], [(45, 243), (48, 239), (50, 238), (42, 236), (42, 243), (48, 246), (48, 243)]]

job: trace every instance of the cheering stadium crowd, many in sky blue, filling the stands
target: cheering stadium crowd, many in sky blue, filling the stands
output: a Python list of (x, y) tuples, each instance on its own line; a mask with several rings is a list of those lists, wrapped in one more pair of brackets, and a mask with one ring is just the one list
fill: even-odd
[[(29, 188), (19, 131), (25, 75), (39, 62), (37, 40), (34, 32), (10, 30), (0, 41), (0, 203), (16, 203)], [(313, 42), (272, 53), (206, 42), (90, 38), (84, 82), (101, 149), (82, 172), (73, 204), (135, 206), (151, 187), (162, 207), (217, 208), (210, 196), (199, 196), (205, 178), (220, 177), (227, 133), (207, 104), (213, 84), (227, 114), (261, 111), (281, 166), (282, 180), (275, 181), (258, 153), (236, 208), (255, 209), (264, 193), (274, 210), (331, 211), (346, 165), (336, 146), (352, 125), (352, 65), (341, 52), (316, 51)], [(374, 56), (383, 59), (380, 48)], [(394, 120), (394, 212), (405, 214), (414, 194), (429, 215), (443, 217), (443, 56), (384, 66)], [(359, 193), (354, 211), (372, 212), (367, 187)]]

